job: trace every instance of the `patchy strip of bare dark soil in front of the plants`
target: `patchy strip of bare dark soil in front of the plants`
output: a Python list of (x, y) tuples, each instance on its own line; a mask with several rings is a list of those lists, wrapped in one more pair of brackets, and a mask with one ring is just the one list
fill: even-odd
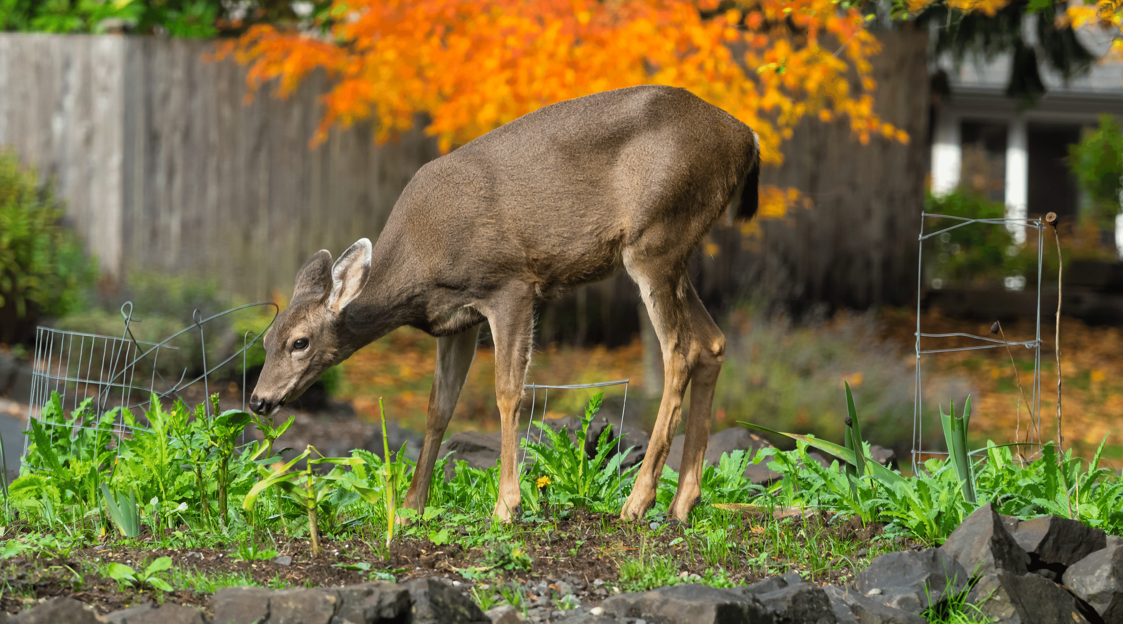
[[(732, 525), (730, 531), (731, 540), (746, 542), (750, 550), (759, 551), (766, 539), (765, 533), (758, 533), (759, 519), (742, 516), (740, 525)], [(871, 525), (864, 527), (860, 521), (851, 519), (842, 523), (829, 523), (824, 514), (815, 514), (810, 517), (785, 519), (782, 526), (789, 530), (795, 540), (806, 543), (803, 534), (813, 534), (814, 539), (822, 541), (827, 536), (847, 540), (853, 544), (858, 559), (864, 559), (866, 549), (873, 550), (870, 540), (880, 533), (880, 526)], [(582, 513), (572, 520), (562, 520), (549, 525), (549, 531), (542, 532), (541, 525), (523, 525), (526, 532), (520, 531), (517, 540), (526, 544), (526, 553), (532, 560), (530, 570), (501, 570), (493, 568), (490, 570), (493, 577), (487, 580), (465, 578), (462, 572), (469, 573), (474, 567), (486, 566), (494, 562), (489, 556), (495, 552), (495, 544), (487, 544), (486, 548), (465, 549), (456, 543), (437, 545), (427, 539), (405, 538), (401, 542), (395, 542), (390, 549), (390, 559), (385, 559), (380, 551), (372, 549), (371, 544), (362, 539), (353, 538), (322, 539), (321, 552), (317, 557), (311, 557), (311, 547), (308, 540), (279, 540), (274, 548), (279, 556), (291, 557), (290, 565), (281, 565), (273, 560), (243, 561), (237, 559), (237, 548), (210, 548), (210, 549), (163, 549), (145, 545), (145, 540), (150, 542), (150, 538), (141, 536), (133, 543), (106, 542), (97, 547), (76, 550), (65, 560), (53, 559), (20, 559), (12, 558), (3, 561), (2, 569), (6, 577), (6, 587), (0, 596), (0, 609), (8, 613), (18, 613), (33, 603), (35, 599), (44, 599), (53, 596), (70, 596), (83, 603), (93, 605), (101, 613), (109, 613), (135, 604), (140, 604), (150, 599), (179, 603), (199, 606), (209, 611), (210, 594), (197, 593), (192, 590), (176, 590), (174, 593), (157, 596), (158, 593), (141, 591), (129, 587), (121, 587), (118, 581), (91, 573), (90, 563), (118, 562), (140, 569), (147, 562), (157, 557), (171, 557), (173, 570), (188, 571), (195, 570), (208, 575), (245, 573), (264, 586), (298, 586), (298, 587), (331, 587), (339, 585), (353, 585), (371, 578), (371, 571), (385, 571), (394, 575), (398, 581), (410, 580), (421, 577), (444, 577), (459, 581), (467, 589), (475, 582), (496, 582), (517, 580), (524, 584), (528, 580), (556, 581), (564, 576), (572, 576), (585, 579), (591, 582), (594, 579), (602, 579), (609, 587), (618, 580), (618, 568), (622, 560), (638, 557), (641, 551), (645, 553), (672, 554), (681, 560), (681, 571), (691, 573), (703, 573), (710, 566), (706, 566), (697, 557), (697, 545), (695, 552), (686, 545), (685, 541), (670, 544), (676, 538), (683, 535), (678, 526), (666, 526), (656, 534), (637, 530), (636, 525), (623, 523), (615, 516)], [(758, 527), (754, 531), (754, 527)], [(9, 526), (10, 532), (12, 526)], [(756, 543), (754, 543), (756, 542)], [(216, 544), (218, 547), (229, 547), (230, 544)], [(915, 545), (915, 544), (910, 544)], [(880, 547), (885, 550), (885, 545)], [(893, 548), (893, 547), (891, 547)], [(895, 545), (904, 548), (904, 544)], [(570, 556), (570, 550), (577, 549), (575, 556)], [(345, 569), (338, 566), (355, 565), (358, 562), (369, 563), (369, 570)], [(769, 562), (772, 573), (778, 573), (786, 567), (802, 569), (798, 561), (784, 561), (775, 559)], [(846, 565), (832, 566), (828, 570), (819, 570), (813, 579), (816, 582), (846, 584), (852, 576), (851, 570)], [(736, 568), (725, 568), (734, 582), (754, 582), (759, 580), (757, 573), (743, 565)], [(84, 571), (84, 573), (82, 573)], [(79, 580), (79, 576), (82, 576)], [(587, 588), (593, 589), (590, 585)], [(35, 598), (30, 598), (33, 596)], [(603, 596), (591, 591), (578, 593), (582, 602), (587, 605), (595, 605), (603, 599)]]

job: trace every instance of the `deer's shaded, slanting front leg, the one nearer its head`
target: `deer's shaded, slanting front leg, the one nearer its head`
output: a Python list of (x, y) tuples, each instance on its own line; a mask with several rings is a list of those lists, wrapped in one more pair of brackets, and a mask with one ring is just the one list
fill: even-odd
[(460, 397), (460, 389), (464, 388), (464, 379), (467, 378), (468, 368), (472, 367), (472, 360), (476, 356), (478, 336), (480, 325), (476, 325), (460, 333), (437, 339), (437, 369), (433, 371), (432, 389), (429, 392), (424, 442), (421, 444), (418, 466), (403, 503), (403, 506), (417, 510), (419, 515), (424, 511), (426, 501), (429, 498), (432, 467), (437, 462), (437, 453), (440, 452), (445, 429), (448, 428), (448, 421), (456, 410), (456, 401)]

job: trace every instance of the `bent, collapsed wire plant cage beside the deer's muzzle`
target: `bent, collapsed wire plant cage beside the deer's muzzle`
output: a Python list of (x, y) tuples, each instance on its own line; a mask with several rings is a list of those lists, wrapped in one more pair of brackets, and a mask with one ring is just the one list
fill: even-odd
[[(211, 345), (208, 338), (216, 338), (222, 321), (243, 310), (256, 308), (273, 309), (273, 319), (259, 330), (246, 331), (240, 337), (225, 333), (220, 345)], [(83, 430), (111, 432), (118, 438), (131, 435), (141, 429), (143, 413), (150, 409), (152, 401), (174, 402), (185, 394), (198, 395), (202, 391), (202, 404), (207, 417), (211, 393), (211, 382), (216, 375), (230, 370), (240, 360), (241, 384), (239, 386), (241, 409), (246, 406), (246, 354), (256, 345), (273, 324), (279, 312), (273, 302), (257, 302), (231, 308), (223, 312), (203, 316), (193, 311), (192, 324), (172, 333), (159, 342), (137, 340), (133, 324), (141, 322), (133, 316), (133, 302), (121, 305), (122, 331), (120, 337), (100, 336), (80, 331), (67, 331), (38, 327), (35, 336), (35, 351), (31, 369), (31, 395), (28, 405), (28, 432), (24, 435), (21, 461), (30, 471), (46, 471), (46, 466), (34, 464), (28, 455), (31, 419), (38, 421), (52, 444), (58, 437), (70, 437), (73, 444)], [(210, 331), (210, 336), (208, 334)], [(216, 351), (229, 351), (226, 357), (217, 357)], [(208, 361), (208, 351), (211, 361)], [(174, 371), (179, 370), (179, 375)], [(70, 412), (73, 420), (62, 414), (45, 414), (45, 406), (57, 393), (63, 412)], [(84, 405), (84, 410), (83, 410)], [(138, 416), (129, 424), (125, 410)], [(79, 417), (75, 417), (77, 415)], [(106, 429), (106, 417), (112, 416), (111, 429)], [(0, 453), (2, 453), (0, 446)], [(0, 458), (3, 461), (3, 458)], [(4, 484), (7, 486), (7, 484)]]

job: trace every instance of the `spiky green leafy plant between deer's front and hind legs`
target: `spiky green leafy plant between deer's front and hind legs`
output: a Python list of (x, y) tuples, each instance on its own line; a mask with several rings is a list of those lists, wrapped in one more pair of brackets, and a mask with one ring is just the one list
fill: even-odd
[(576, 442), (568, 432), (554, 431), (541, 423), (535, 424), (546, 435), (547, 443), (523, 440), (523, 446), (535, 453), (535, 469), (548, 477), (548, 486), (542, 489), (554, 504), (611, 512), (619, 510), (620, 501), (627, 495), (624, 485), (638, 466), (620, 469), (620, 462), (631, 448), (609, 459), (609, 455), (617, 450), (612, 441), (612, 425), (601, 432), (594, 457), (590, 458), (584, 448), (588, 428), (601, 410), (603, 396), (603, 393), (597, 394), (585, 405), (581, 430), (575, 432)]

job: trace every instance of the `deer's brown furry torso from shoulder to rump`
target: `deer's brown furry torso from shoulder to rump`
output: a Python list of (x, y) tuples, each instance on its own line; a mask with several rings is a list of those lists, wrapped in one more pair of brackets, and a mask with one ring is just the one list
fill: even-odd
[(630, 246), (688, 255), (756, 149), (747, 126), (685, 90), (606, 91), (427, 164), (381, 238), (428, 250), (441, 279), (523, 275), (548, 294), (606, 276)]

